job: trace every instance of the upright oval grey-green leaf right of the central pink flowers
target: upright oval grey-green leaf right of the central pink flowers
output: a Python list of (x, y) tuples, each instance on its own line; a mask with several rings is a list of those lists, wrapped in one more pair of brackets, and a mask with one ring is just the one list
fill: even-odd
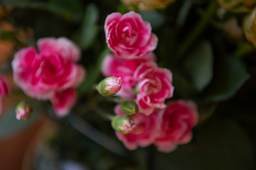
[(203, 40), (186, 57), (184, 69), (197, 91), (202, 91), (213, 77), (213, 50), (210, 42)]

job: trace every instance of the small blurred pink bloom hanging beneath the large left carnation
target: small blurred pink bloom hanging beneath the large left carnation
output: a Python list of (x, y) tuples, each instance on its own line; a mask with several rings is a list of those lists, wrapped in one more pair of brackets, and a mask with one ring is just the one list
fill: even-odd
[(75, 104), (75, 101), (76, 93), (75, 90), (72, 88), (58, 91), (51, 98), (55, 113), (60, 117), (68, 115), (70, 109)]

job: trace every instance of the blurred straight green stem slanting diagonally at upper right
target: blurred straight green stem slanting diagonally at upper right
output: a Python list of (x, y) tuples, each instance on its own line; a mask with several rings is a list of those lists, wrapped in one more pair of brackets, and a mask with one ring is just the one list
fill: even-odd
[(210, 1), (210, 4), (208, 5), (208, 8), (206, 9), (206, 12), (203, 13), (201, 19), (196, 23), (196, 26), (193, 27), (193, 30), (191, 30), (191, 33), (188, 35), (188, 37), (181, 43), (181, 47), (178, 51), (178, 58), (181, 60), (181, 57), (185, 55), (185, 53), (189, 50), (191, 45), (197, 40), (198, 36), (201, 35), (203, 30), (205, 30), (206, 26), (210, 22), (210, 19), (213, 18), (215, 15), (215, 12), (218, 8), (218, 4), (216, 4), (215, 1)]

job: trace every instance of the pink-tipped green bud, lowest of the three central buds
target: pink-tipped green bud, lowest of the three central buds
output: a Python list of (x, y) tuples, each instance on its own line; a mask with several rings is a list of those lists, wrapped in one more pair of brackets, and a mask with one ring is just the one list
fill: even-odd
[(117, 115), (112, 119), (112, 128), (117, 132), (121, 132), (124, 135), (129, 134), (134, 130), (135, 124), (131, 118)]

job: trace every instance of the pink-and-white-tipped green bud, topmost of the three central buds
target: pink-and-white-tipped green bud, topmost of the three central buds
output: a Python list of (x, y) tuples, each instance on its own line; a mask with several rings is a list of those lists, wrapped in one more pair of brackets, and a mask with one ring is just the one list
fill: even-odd
[(97, 91), (102, 96), (113, 96), (121, 89), (121, 77), (107, 77), (97, 85)]

